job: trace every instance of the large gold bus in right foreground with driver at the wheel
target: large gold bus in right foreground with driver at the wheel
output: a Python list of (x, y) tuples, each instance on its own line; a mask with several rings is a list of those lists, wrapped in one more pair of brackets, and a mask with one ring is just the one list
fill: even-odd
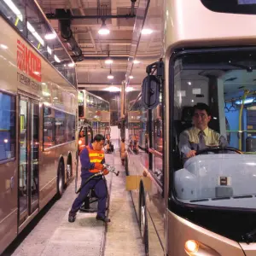
[[(145, 252), (255, 255), (256, 1), (145, 0), (138, 10), (125, 82), (142, 84), (148, 148), (128, 148), (126, 185)], [(184, 162), (178, 143), (197, 103), (229, 147)]]

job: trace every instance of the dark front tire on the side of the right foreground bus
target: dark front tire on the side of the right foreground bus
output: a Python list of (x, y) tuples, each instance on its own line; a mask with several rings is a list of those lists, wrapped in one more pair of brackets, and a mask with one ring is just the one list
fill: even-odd
[(140, 200), (139, 200), (139, 227), (141, 236), (143, 238), (143, 244), (145, 249), (145, 254), (148, 254), (148, 215), (147, 215), (147, 207), (146, 207), (146, 198), (143, 189), (143, 185), (141, 185), (142, 189), (140, 189)]

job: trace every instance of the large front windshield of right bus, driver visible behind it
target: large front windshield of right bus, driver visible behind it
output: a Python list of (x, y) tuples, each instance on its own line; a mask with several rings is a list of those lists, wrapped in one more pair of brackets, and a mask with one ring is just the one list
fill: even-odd
[(256, 203), (256, 51), (194, 52), (174, 62), (172, 168), (178, 201)]

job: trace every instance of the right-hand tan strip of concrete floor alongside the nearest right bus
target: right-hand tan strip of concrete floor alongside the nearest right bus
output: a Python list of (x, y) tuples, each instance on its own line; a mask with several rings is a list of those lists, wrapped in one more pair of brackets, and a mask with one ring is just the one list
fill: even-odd
[(144, 247), (137, 224), (130, 192), (125, 190), (125, 169), (119, 153), (115, 154), (115, 167), (119, 177), (113, 177), (110, 195), (110, 211), (104, 256), (143, 256)]

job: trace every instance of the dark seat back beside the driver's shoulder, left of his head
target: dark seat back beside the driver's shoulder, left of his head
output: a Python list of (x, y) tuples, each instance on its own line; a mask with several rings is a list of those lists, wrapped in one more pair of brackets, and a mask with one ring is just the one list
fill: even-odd
[(172, 154), (173, 154), (173, 167), (174, 170), (181, 169), (183, 167), (183, 162), (178, 148), (179, 135), (181, 132), (192, 127), (194, 108), (184, 107), (182, 110), (182, 116), (180, 120), (173, 121), (173, 141), (172, 141)]

